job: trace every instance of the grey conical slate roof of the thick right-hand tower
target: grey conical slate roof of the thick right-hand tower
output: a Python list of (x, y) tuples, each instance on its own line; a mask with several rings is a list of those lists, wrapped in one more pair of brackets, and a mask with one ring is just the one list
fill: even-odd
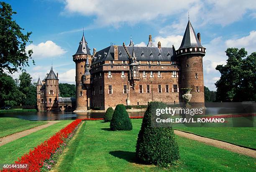
[(190, 21), (187, 23), (187, 28), (185, 30), (182, 43), (179, 47), (181, 48), (189, 48), (189, 47), (202, 47), (200, 41), (198, 40), (195, 30), (193, 29)]

